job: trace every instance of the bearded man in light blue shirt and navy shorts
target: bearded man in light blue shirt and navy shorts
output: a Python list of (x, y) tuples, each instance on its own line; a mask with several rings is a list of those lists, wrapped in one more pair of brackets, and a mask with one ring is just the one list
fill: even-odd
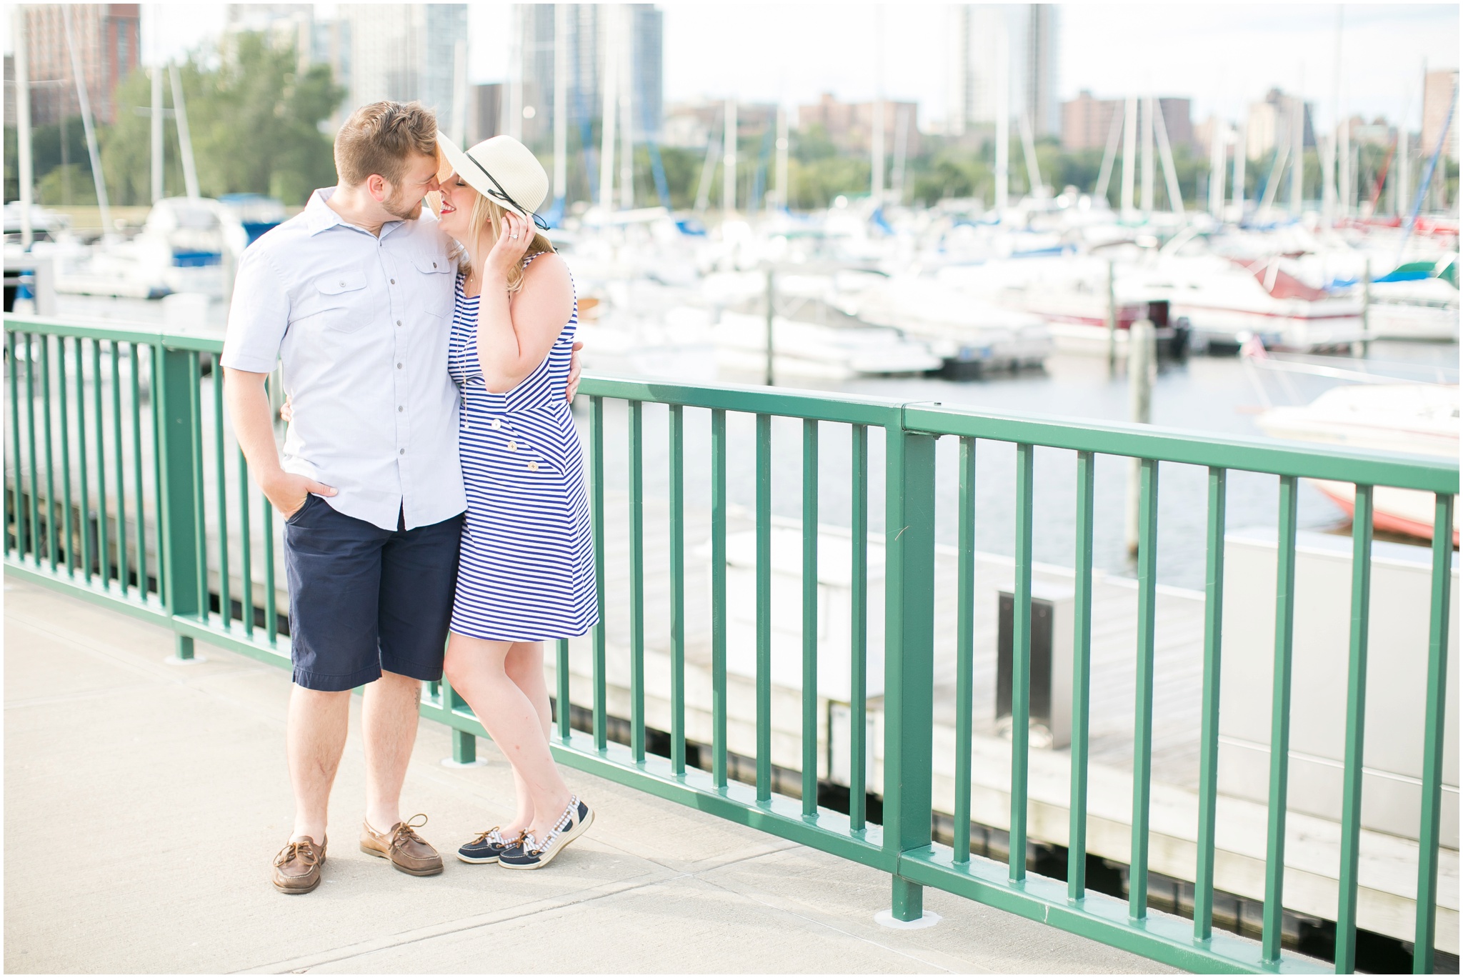
[[(421, 214), (437, 189), (436, 136), (417, 102), (356, 110), (335, 138), (338, 184), (252, 244), (234, 284), (224, 392), (255, 480), (285, 517), (296, 815), (274, 861), (282, 893), (320, 881), (360, 685), (361, 849), (402, 873), (442, 873), (415, 832), (426, 815), (402, 821), (399, 810), (421, 682), (442, 678), (467, 509), (448, 375), (456, 262)], [(293, 407), (282, 461), (265, 391), (277, 362)]]

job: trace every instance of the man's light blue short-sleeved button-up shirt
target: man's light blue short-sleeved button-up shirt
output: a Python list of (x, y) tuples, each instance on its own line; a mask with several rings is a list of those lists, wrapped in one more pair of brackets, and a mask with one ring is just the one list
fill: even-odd
[(456, 264), (430, 211), (375, 236), (316, 190), (238, 262), (225, 367), (284, 365), (285, 471), (336, 489), (338, 512), (395, 530), (467, 509), (448, 373)]

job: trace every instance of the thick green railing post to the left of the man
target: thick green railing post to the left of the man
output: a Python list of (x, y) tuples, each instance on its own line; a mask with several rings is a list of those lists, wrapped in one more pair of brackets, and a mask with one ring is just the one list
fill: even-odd
[[(193, 356), (187, 350), (162, 348), (159, 356), (162, 376), (158, 381), (158, 426), (161, 441), (161, 496), (162, 496), (162, 577), (167, 581), (165, 608), (168, 615), (198, 616), (205, 608), (206, 596), (199, 593), (198, 581), (198, 493), (193, 476), (202, 471), (195, 463), (193, 451), (193, 385), (189, 376)], [(177, 657), (193, 657), (193, 638), (176, 635)]]

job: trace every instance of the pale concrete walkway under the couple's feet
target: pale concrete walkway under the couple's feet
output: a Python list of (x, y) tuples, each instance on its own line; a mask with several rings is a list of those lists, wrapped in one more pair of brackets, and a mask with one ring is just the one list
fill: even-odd
[[(9, 972), (1151, 972), (935, 890), (891, 931), (888, 877), (581, 773), (594, 829), (543, 873), (392, 871), (356, 848), (351, 742), (319, 890), (274, 892), (290, 827), (288, 676), (45, 589), (4, 586)], [(423, 723), (405, 811), (443, 851), (511, 817), (512, 779), (448, 769)]]

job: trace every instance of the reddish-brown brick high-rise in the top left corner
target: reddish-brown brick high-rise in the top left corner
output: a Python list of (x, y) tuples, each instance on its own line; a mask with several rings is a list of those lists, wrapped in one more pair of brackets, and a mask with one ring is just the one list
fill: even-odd
[(138, 67), (140, 54), (139, 4), (73, 3), (25, 7), (29, 54), (31, 122), (45, 126), (80, 113), (72, 51), (66, 45), (66, 16), (86, 82), (86, 98), (97, 122), (110, 123), (117, 107), (111, 94)]

